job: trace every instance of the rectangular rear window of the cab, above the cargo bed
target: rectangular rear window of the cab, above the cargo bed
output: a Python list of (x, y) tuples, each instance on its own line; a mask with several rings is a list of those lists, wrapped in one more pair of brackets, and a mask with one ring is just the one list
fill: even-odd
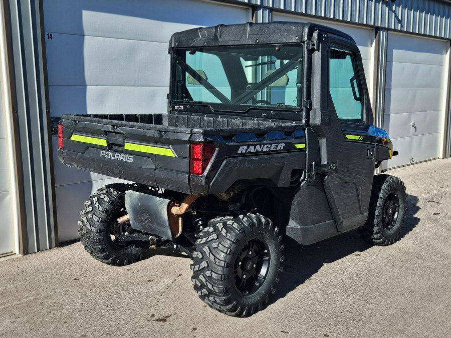
[(176, 49), (172, 101), (213, 110), (300, 110), (301, 44)]

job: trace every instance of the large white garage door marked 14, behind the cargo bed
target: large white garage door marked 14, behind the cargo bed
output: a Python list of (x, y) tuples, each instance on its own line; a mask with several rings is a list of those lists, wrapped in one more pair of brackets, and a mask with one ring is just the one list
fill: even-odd
[[(249, 21), (244, 7), (188, 0), (44, 0), (49, 100), (62, 114), (167, 110), (168, 41), (198, 26)], [(77, 238), (83, 202), (109, 177), (67, 168), (53, 139), (60, 242)]]

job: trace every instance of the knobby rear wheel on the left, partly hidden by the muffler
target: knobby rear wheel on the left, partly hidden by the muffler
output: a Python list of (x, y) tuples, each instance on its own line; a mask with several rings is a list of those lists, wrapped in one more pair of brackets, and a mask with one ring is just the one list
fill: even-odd
[(149, 241), (119, 241), (125, 229), (117, 219), (126, 214), (125, 192), (143, 190), (136, 184), (110, 184), (100, 188), (85, 202), (80, 212), (80, 241), (95, 259), (111, 265), (126, 265), (142, 258), (149, 249)]

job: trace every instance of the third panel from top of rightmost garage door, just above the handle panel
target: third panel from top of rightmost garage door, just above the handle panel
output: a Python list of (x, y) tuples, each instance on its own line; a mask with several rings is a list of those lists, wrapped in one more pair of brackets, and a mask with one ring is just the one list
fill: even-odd
[(385, 111), (390, 114), (437, 111), (442, 108), (441, 88), (391, 88), (385, 90)]

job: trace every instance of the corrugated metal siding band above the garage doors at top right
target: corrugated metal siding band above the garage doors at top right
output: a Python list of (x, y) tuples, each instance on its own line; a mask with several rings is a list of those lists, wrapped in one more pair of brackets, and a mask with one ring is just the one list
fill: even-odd
[[(230, 2), (230, 1), (229, 1)], [(439, 0), (235, 0), (299, 14), (451, 39), (451, 3)]]

